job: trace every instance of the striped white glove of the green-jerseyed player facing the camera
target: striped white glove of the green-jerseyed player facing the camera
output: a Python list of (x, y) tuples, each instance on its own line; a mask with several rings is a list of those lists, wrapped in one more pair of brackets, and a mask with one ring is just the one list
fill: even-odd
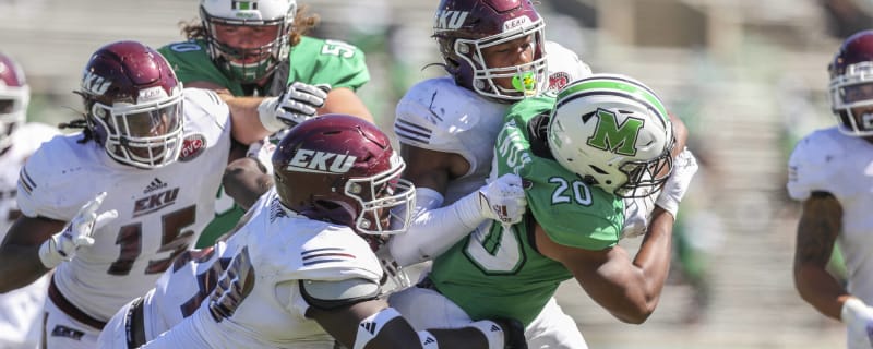
[(267, 97), (258, 106), (258, 117), (270, 132), (295, 127), (315, 117), (315, 110), (324, 106), (331, 86), (309, 85), (294, 82), (278, 97)]

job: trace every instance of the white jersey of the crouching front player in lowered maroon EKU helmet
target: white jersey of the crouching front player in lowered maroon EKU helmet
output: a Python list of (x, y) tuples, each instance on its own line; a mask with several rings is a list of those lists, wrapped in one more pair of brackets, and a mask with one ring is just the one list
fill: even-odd
[(382, 268), (370, 245), (346, 226), (285, 209), (275, 189), (251, 214), (227, 240), (227, 269), (215, 290), (145, 348), (332, 348), (334, 339), (306, 317), (310, 305), (299, 281), (379, 282)]

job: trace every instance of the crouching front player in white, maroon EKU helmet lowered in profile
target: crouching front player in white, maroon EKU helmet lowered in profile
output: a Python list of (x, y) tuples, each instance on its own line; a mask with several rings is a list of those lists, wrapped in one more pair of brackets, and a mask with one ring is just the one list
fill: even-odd
[(375, 125), (314, 118), (272, 159), (276, 185), (232, 236), (177, 260), (104, 348), (526, 348), (521, 325), (510, 339), (492, 321), (417, 333), (381, 298), (373, 251), (406, 230), (415, 190)]

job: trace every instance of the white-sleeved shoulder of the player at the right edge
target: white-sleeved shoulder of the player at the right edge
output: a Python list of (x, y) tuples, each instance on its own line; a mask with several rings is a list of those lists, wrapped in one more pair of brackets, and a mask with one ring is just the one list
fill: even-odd
[(798, 142), (788, 160), (787, 188), (792, 198), (805, 201), (813, 191), (835, 193), (834, 177), (840, 171), (846, 153), (839, 137), (849, 136), (832, 128)]

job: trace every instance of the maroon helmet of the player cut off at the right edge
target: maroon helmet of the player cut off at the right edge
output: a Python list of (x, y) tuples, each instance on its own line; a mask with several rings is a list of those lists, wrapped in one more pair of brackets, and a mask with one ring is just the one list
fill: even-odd
[(828, 71), (830, 108), (839, 130), (854, 136), (873, 135), (873, 112), (854, 115), (852, 111), (852, 108), (873, 109), (873, 31), (847, 38)]

